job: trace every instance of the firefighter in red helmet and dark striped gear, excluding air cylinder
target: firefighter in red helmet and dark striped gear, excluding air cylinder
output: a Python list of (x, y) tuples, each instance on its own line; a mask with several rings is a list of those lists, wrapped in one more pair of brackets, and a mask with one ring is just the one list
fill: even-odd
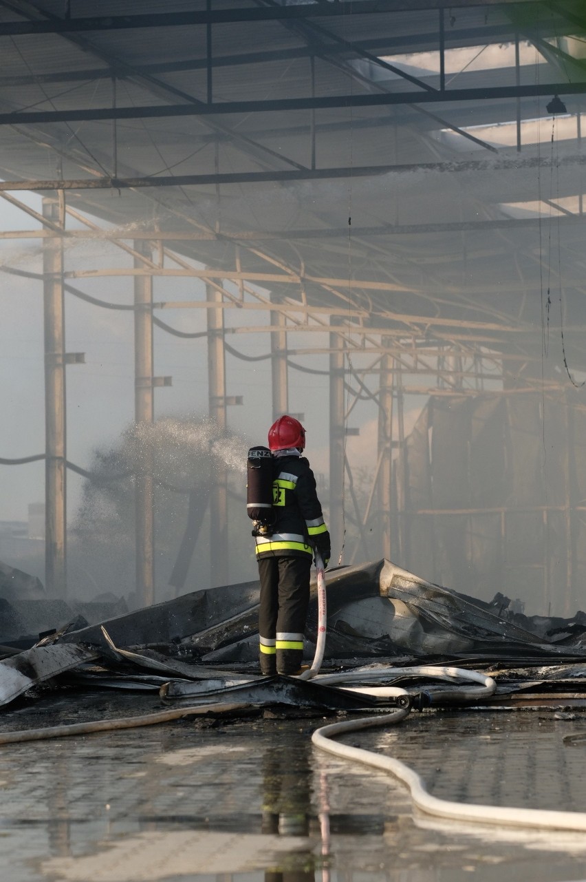
[(314, 549), (324, 566), (330, 561), (330, 534), (314, 474), (301, 456), (304, 448), (305, 430), (299, 420), (280, 416), (269, 430), (271, 530), (255, 536), (261, 583), (259, 656), (261, 673), (268, 675), (300, 674)]

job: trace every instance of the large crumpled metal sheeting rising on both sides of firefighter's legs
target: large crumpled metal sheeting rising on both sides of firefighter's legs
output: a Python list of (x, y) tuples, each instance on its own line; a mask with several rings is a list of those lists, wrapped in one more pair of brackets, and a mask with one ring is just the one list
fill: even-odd
[[(508, 610), (508, 598), (501, 594), (491, 602), (476, 600), (419, 579), (384, 559), (334, 569), (326, 574), (326, 582), (326, 660), (388, 659), (404, 654), (419, 660), (474, 655), (485, 660), (533, 657), (545, 661), (551, 656), (560, 660), (586, 656), (579, 636), (586, 632), (582, 613), (569, 620), (530, 619)], [(140, 647), (141, 657), (126, 654), (126, 661), (168, 670), (174, 676), (203, 678), (206, 675), (197, 665), (176, 658), (180, 647), (198, 659), (202, 669), (209, 669), (210, 664), (256, 662), (258, 590), (256, 581), (211, 588), (115, 617), (103, 623), (111, 646), (99, 625), (55, 640), (94, 643), (104, 654), (117, 652), (119, 661), (130, 647)], [(313, 658), (316, 627), (314, 586), (307, 660)]]

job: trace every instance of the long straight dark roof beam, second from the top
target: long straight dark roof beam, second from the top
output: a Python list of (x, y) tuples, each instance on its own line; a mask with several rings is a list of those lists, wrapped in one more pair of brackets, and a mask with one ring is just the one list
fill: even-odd
[(137, 105), (126, 108), (77, 108), (72, 110), (26, 110), (0, 114), (0, 125), (24, 123), (72, 123), (112, 119), (159, 119), (169, 116), (226, 116), (250, 113), (287, 113), (292, 110), (376, 108), (398, 104), (449, 104), (453, 101), (503, 101), (538, 98), (541, 95), (580, 95), (584, 83), (537, 83), (525, 86), (487, 86), (449, 89), (445, 92), (412, 91), (375, 94), (324, 95), (316, 98), (282, 98), (270, 101), (219, 101), (211, 104)]

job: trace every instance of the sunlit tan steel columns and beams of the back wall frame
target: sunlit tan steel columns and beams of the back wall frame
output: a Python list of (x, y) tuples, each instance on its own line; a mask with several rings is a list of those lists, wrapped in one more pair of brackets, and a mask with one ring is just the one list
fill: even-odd
[[(43, 201), (43, 212), (33, 209), (11, 197), (11, 202), (29, 215), (41, 221), (43, 229), (19, 231), (20, 237), (39, 237), (43, 243), (43, 273), (24, 273), (10, 267), (4, 272), (26, 275), (43, 283), (45, 298), (45, 383), (46, 383), (46, 460), (47, 470), (47, 536), (46, 569), (47, 585), (53, 594), (66, 594), (66, 412), (65, 368), (68, 363), (83, 362), (83, 355), (68, 354), (64, 348), (65, 300), (64, 295), (81, 296), (96, 307), (115, 310), (131, 310), (135, 317), (135, 420), (154, 420), (154, 388), (169, 385), (170, 377), (153, 375), (153, 325), (195, 340), (206, 340), (208, 354), (209, 413), (219, 430), (228, 425), (227, 408), (241, 403), (239, 396), (231, 396), (226, 388), (226, 355), (245, 360), (267, 361), (272, 376), (272, 407), (267, 419), (288, 409), (288, 390), (291, 371), (328, 373), (330, 377), (330, 528), (334, 539), (335, 554), (344, 549), (346, 560), (354, 560), (359, 549), (367, 546), (367, 525), (377, 523), (375, 540), (386, 555), (393, 549), (399, 554), (406, 542), (404, 534), (393, 534), (390, 524), (391, 462), (396, 460), (398, 507), (404, 501), (404, 398), (406, 395), (428, 396), (510, 395), (541, 392), (555, 395), (561, 385), (539, 383), (528, 379), (523, 386), (512, 380), (508, 372), (516, 375), (520, 364), (529, 361), (519, 352), (503, 360), (502, 351), (510, 352), (511, 340), (523, 338), (523, 326), (505, 325), (498, 322), (481, 323), (464, 319), (441, 317), (418, 317), (394, 313), (391, 309), (372, 312), (357, 309), (353, 303), (353, 288), (362, 291), (369, 288), (393, 292), (394, 283), (373, 283), (369, 280), (325, 279), (302, 277), (290, 267), (256, 249), (256, 256), (263, 258), (275, 272), (247, 273), (234, 266), (234, 270), (202, 268), (193, 260), (185, 258), (169, 248), (166, 238), (158, 238), (152, 228), (149, 235), (143, 231), (140, 239), (130, 239), (129, 234), (102, 230), (108, 241), (132, 258), (129, 267), (103, 267), (100, 269), (71, 271), (67, 269), (65, 240), (76, 238), (85, 241), (85, 230), (65, 228), (65, 219), (81, 222), (92, 233), (100, 232), (96, 223), (68, 206), (63, 191)], [(197, 238), (197, 231), (194, 234)], [(239, 261), (237, 261), (239, 262)], [(83, 278), (130, 277), (134, 284), (133, 302), (114, 304), (85, 295), (66, 280)], [(205, 295), (197, 301), (165, 301), (153, 299), (153, 280), (189, 277), (204, 282)], [(311, 281), (330, 295), (335, 295), (339, 305), (315, 306), (304, 296), (304, 285)], [(262, 283), (263, 290), (257, 288)], [(279, 293), (266, 295), (265, 289), (275, 284)], [(286, 294), (282, 293), (283, 285)], [(342, 289), (342, 284), (345, 290)], [(291, 293), (289, 291), (291, 290)], [(251, 315), (265, 313), (269, 323), (265, 325), (227, 325), (227, 310), (247, 311)], [(175, 331), (163, 322), (159, 315), (168, 309), (204, 309), (207, 313), (207, 331), (184, 333)], [(375, 324), (373, 318), (376, 319)], [(267, 351), (260, 355), (242, 355), (227, 339), (236, 334), (263, 333), (268, 335)], [(295, 333), (318, 333), (322, 340), (315, 347), (290, 347)], [(329, 340), (323, 345), (325, 339)], [(300, 355), (329, 355), (328, 371), (313, 370), (295, 363)], [(360, 359), (360, 364), (352, 360)], [(367, 360), (367, 363), (365, 363)], [(419, 377), (426, 377), (421, 384)], [(429, 379), (433, 378), (433, 382)], [(509, 387), (508, 389), (506, 387)], [(345, 439), (357, 434), (349, 426), (354, 408), (360, 400), (368, 400), (378, 414), (377, 461), (370, 476), (367, 497), (362, 501), (355, 488), (355, 475), (345, 450)], [(30, 460), (30, 458), (26, 458)], [(25, 461), (25, 460), (23, 460)], [(83, 469), (76, 469), (82, 471)], [(136, 476), (137, 486), (137, 594), (144, 604), (155, 600), (154, 591), (154, 506), (155, 487), (148, 467)], [(361, 489), (364, 496), (364, 488)], [(212, 549), (211, 572), (216, 584), (229, 578), (227, 542), (228, 490), (226, 478), (219, 478), (212, 489), (211, 528), (215, 536)], [(345, 544), (346, 519), (352, 524), (355, 536)], [(404, 525), (404, 519), (399, 520)], [(401, 527), (404, 530), (404, 526)]]

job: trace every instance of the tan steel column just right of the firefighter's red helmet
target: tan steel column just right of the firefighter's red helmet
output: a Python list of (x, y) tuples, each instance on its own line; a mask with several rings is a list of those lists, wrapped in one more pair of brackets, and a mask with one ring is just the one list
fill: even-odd
[[(332, 316), (330, 327), (343, 325), (344, 319)], [(338, 563), (345, 542), (344, 517), (344, 338), (330, 333), (330, 535), (332, 563)]]

